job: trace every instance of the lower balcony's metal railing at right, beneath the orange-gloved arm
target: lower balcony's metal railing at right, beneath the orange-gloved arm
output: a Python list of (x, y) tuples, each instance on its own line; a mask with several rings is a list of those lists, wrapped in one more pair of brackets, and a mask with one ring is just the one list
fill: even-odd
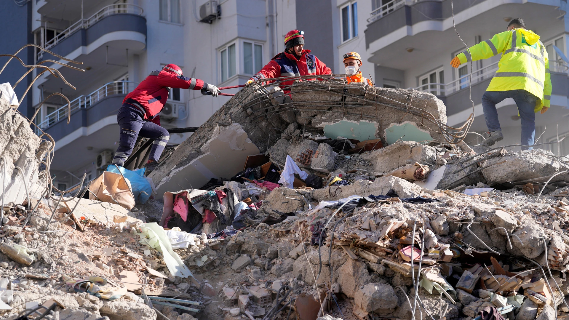
[[(479, 83), (480, 81), (493, 77), (497, 69), (498, 61), (489, 64), (486, 67), (475, 70), (472, 72), (472, 84)], [(466, 75), (459, 77), (459, 79), (456, 79), (449, 83), (424, 83), (419, 85), (417, 88), (409, 89), (430, 92), (433, 95), (437, 96), (448, 96), (451, 93), (455, 93), (461, 89), (468, 88), (469, 77), (470, 73), (467, 73)]]

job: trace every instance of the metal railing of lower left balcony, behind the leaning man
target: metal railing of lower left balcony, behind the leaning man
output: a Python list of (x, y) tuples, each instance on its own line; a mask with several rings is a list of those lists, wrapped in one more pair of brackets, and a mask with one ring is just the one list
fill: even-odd
[[(81, 95), (73, 100), (70, 101), (71, 105), (71, 112), (81, 109), (81, 108), (88, 108), (89, 106), (96, 104), (97, 101), (104, 99), (105, 97), (111, 95), (126, 95), (127, 93), (131, 92), (136, 88), (138, 83), (133, 81), (113, 81), (103, 85), (101, 88), (93, 91), (89, 95)], [(51, 125), (55, 124), (57, 121), (61, 119), (67, 118), (68, 114), (68, 106), (67, 104), (61, 106), (54, 112), (48, 114), (38, 127), (45, 130), (49, 128)], [(36, 133), (39, 134), (39, 129), (36, 128)]]

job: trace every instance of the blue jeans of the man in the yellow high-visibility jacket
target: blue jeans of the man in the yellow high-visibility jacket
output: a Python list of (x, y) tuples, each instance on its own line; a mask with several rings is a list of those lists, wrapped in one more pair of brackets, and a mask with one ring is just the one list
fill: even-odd
[[(498, 121), (496, 104), (504, 99), (512, 98), (518, 106), (522, 125), (521, 145), (531, 146), (535, 138), (535, 101), (537, 97), (525, 90), (486, 91), (482, 96), (482, 108), (486, 126), (490, 132), (502, 130)], [(531, 150), (532, 147), (522, 147), (522, 150)]]

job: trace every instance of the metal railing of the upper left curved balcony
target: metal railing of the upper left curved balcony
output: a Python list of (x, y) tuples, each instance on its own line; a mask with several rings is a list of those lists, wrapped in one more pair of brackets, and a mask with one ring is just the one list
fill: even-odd
[[(97, 13), (93, 14), (91, 17), (87, 19), (79, 19), (77, 22), (71, 24), (67, 29), (61, 31), (59, 34), (54, 36), (52, 39), (47, 41), (44, 44), (44, 48), (50, 49), (59, 43), (61, 40), (67, 38), (68, 36), (74, 34), (77, 30), (86, 29), (93, 24), (100, 21), (102, 18), (108, 17), (109, 15), (113, 14), (124, 14), (130, 13), (135, 15), (142, 15), (144, 10), (141, 6), (133, 5), (132, 3), (121, 3), (115, 5), (109, 5), (103, 7), (101, 10), (97, 11)], [(43, 56), (44, 51), (38, 52), (38, 59), (41, 59)]]

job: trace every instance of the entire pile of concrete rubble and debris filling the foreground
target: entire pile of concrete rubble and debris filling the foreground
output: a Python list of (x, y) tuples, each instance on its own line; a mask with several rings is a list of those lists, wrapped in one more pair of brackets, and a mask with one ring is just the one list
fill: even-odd
[(245, 87), (150, 175), (163, 198), (131, 210), (42, 198), (28, 165), (36, 187), (3, 208), (0, 318), (569, 315), (564, 158), (449, 143), (424, 92), (291, 96)]

